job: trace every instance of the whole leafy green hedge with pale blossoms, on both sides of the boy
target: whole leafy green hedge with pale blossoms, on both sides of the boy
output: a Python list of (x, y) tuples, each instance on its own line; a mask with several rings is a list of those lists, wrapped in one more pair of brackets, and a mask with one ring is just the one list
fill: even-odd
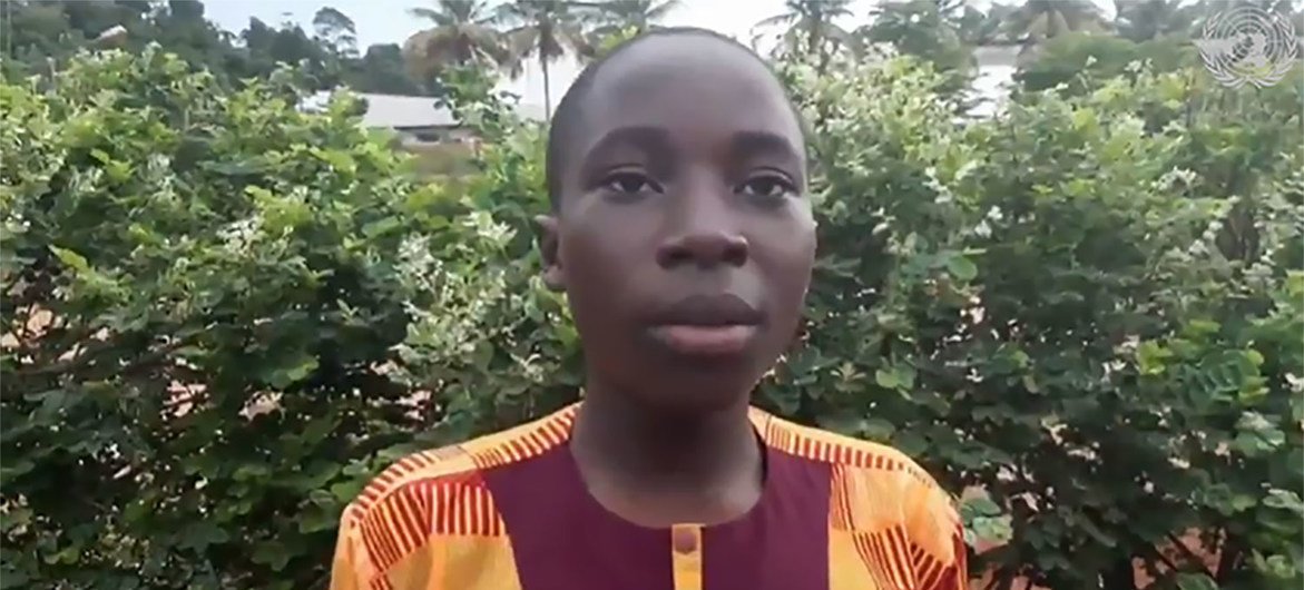
[[(831, 68), (781, 68), (822, 251), (759, 402), (978, 490), (970, 541), (1008, 542), (975, 576), (1296, 587), (1299, 86), (1138, 70), (961, 126), (915, 61)], [(489, 141), (419, 185), (287, 77), (150, 51), (0, 86), (4, 587), (322, 587), (382, 465), (575, 400), (541, 129), (454, 83)], [(1164, 548), (1192, 530), (1214, 570)]]

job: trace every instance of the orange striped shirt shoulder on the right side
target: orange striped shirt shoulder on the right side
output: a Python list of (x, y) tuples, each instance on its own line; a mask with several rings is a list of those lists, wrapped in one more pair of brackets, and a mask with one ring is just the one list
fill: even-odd
[(964, 533), (955, 500), (915, 460), (885, 444), (764, 413), (755, 415), (764, 426), (762, 435), (767, 444), (831, 466), (829, 507), (835, 529), (901, 535), (941, 564), (964, 559)]

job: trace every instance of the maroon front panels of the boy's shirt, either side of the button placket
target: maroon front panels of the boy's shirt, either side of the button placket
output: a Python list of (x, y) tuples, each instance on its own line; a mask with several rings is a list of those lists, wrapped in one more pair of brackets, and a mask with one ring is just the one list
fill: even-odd
[[(703, 530), (704, 590), (828, 589), (829, 466), (767, 448), (765, 490), (743, 517)], [(523, 590), (670, 590), (669, 529), (595, 500), (570, 447), (484, 471)]]

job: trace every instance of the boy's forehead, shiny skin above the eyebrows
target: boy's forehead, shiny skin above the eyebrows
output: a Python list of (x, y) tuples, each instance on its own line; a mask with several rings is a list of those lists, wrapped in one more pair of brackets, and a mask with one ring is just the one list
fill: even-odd
[(623, 126), (662, 128), (698, 139), (769, 133), (802, 148), (782, 86), (746, 49), (699, 35), (649, 38), (613, 56), (580, 107), (582, 151)]

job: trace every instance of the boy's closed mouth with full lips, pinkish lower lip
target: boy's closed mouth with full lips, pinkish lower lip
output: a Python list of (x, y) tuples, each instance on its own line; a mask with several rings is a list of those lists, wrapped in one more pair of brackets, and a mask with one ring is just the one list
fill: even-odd
[(747, 348), (763, 319), (760, 310), (738, 296), (692, 296), (656, 313), (651, 332), (681, 354), (728, 356)]

